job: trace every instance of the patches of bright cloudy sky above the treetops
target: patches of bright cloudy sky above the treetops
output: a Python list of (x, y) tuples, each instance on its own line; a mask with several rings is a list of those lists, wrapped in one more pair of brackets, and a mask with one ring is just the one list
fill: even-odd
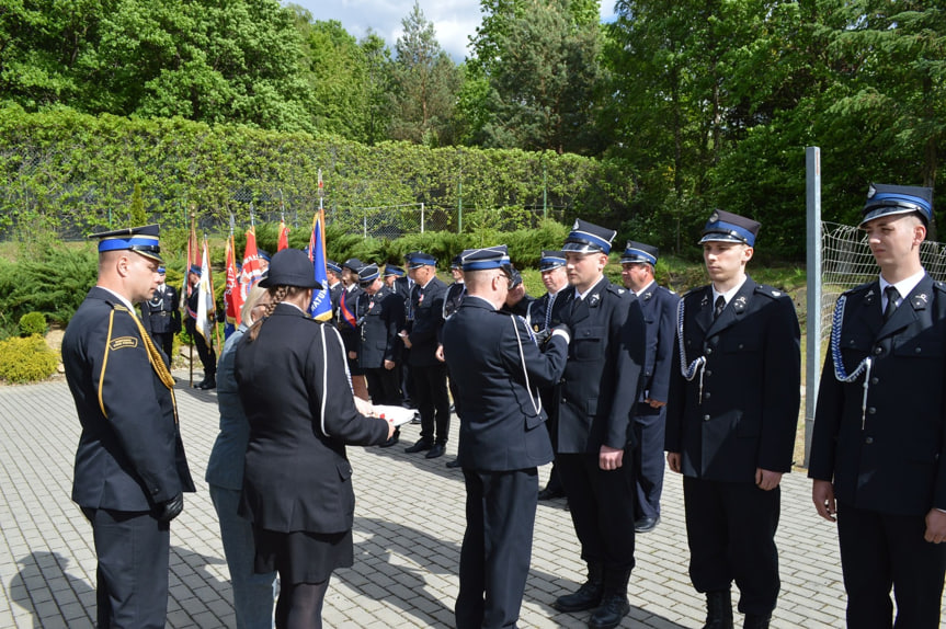
[[(314, 20), (338, 20), (357, 39), (372, 28), (392, 49), (402, 32), (401, 20), (413, 7), (413, 0), (293, 0), (293, 3), (308, 9)], [(420, 7), (433, 22), (441, 47), (457, 62), (466, 58), (469, 37), (480, 24), (480, 1), (420, 0)], [(602, 20), (611, 20), (613, 8), (614, 0), (602, 0)]]

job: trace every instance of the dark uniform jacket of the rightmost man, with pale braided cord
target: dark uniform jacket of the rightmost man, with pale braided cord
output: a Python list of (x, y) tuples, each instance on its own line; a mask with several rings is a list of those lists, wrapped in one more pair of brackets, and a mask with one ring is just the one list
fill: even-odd
[(845, 293), (844, 366), (873, 359), (866, 413), (864, 375), (839, 381), (829, 351), (808, 473), (857, 508), (924, 515), (946, 508), (946, 286), (924, 276), (886, 323), (880, 295), (879, 282)]

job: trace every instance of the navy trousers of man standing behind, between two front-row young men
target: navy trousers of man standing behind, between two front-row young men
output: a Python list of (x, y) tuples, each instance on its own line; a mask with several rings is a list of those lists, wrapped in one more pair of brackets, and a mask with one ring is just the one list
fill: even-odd
[(652, 408), (638, 402), (634, 416), (635, 484), (637, 517), (659, 517), (663, 493), (663, 437), (666, 433), (666, 407)]

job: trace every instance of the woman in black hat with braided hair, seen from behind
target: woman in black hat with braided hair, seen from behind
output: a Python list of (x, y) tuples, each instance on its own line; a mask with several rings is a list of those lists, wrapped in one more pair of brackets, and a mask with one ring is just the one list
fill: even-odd
[(240, 515), (253, 523), (257, 572), (280, 573), (276, 627), (319, 628), (329, 576), (354, 562), (345, 444), (381, 444), (394, 426), (358, 413), (339, 333), (306, 313), (321, 288), (308, 256), (280, 251), (260, 285), (269, 316), (236, 355), (250, 422)]

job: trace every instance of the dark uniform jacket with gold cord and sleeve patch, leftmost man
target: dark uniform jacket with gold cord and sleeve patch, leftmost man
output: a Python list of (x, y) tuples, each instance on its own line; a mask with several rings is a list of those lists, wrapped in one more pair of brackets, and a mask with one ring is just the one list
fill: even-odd
[(115, 295), (93, 287), (62, 338), (66, 380), (82, 424), (72, 480), (80, 506), (145, 512), (194, 491), (174, 396), (140, 330)]

